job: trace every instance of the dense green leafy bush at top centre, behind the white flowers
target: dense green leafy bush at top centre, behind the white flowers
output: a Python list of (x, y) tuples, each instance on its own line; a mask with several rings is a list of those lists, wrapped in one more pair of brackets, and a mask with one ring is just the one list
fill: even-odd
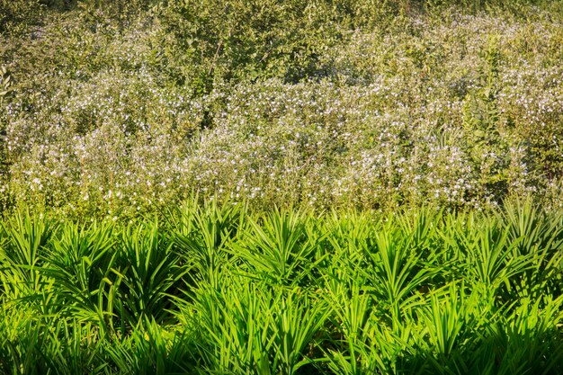
[(172, 35), (176, 42), (173, 49), (161, 43), (157, 58), (176, 67), (177, 79), (198, 94), (209, 93), (218, 79), (323, 76), (319, 56), (343, 38), (339, 29), (352, 22), (352, 3), (163, 2), (157, 10), (165, 22), (161, 38)]

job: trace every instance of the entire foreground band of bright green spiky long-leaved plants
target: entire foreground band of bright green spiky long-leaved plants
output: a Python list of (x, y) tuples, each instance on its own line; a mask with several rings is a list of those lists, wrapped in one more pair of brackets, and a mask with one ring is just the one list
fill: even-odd
[(22, 213), (0, 231), (0, 373), (561, 373), (562, 218)]

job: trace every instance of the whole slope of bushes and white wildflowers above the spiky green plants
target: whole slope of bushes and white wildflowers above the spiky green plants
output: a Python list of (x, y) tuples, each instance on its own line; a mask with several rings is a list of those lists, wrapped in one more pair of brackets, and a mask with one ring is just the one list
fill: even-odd
[(0, 3), (0, 201), (561, 207), (563, 5)]

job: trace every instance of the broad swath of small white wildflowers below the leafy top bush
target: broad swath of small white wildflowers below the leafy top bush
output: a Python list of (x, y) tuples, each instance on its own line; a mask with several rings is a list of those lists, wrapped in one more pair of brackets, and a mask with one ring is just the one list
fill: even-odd
[[(560, 175), (541, 173), (563, 170), (559, 25), (456, 13), (411, 23), (404, 32), (356, 31), (327, 51), (334, 76), (324, 80), (217, 84), (204, 96), (165, 84), (150, 66), (138, 41), (150, 31), (126, 32), (100, 52), (107, 67), (39, 76), (39, 90), (0, 112), (10, 165), (0, 194), (113, 217), (193, 193), (389, 208), (481, 207), (554, 191)], [(490, 130), (500, 148), (478, 144), (463, 125), (491, 45), (501, 57)]]

